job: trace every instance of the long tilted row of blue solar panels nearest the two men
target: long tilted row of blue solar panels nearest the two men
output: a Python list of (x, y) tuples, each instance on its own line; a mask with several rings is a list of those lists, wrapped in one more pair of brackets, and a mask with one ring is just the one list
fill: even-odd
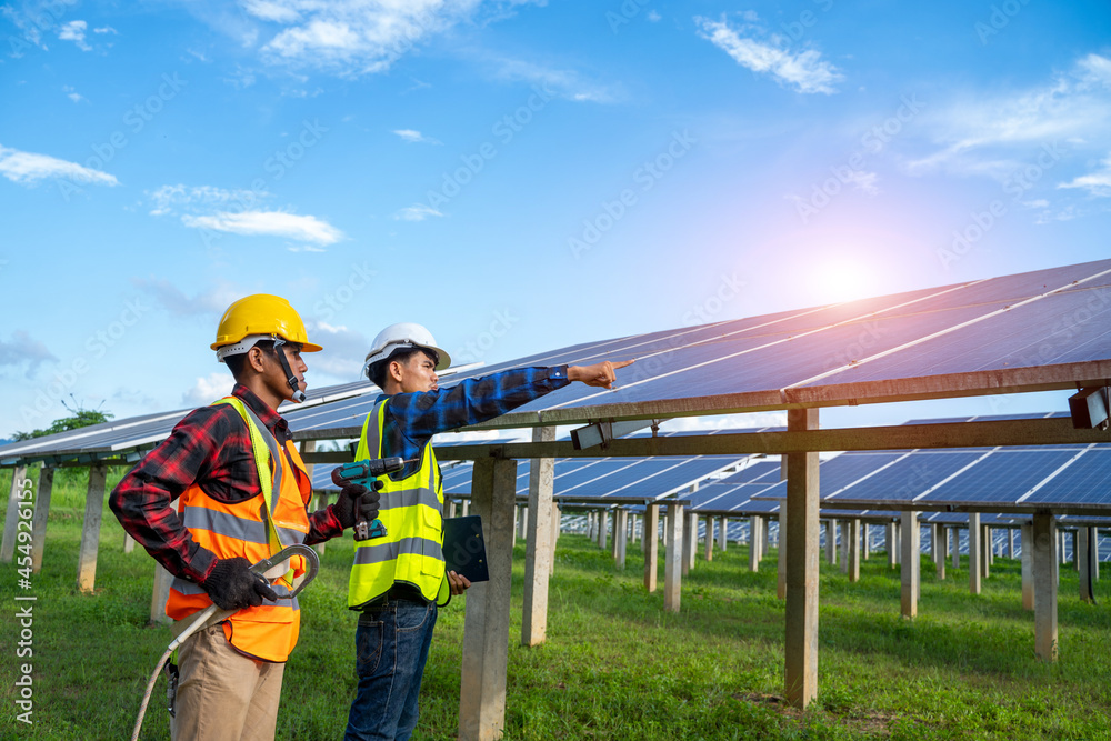
[[(1111, 260), (1102, 260), (582, 343), (469, 368), (444, 387), (521, 366), (637, 359), (620, 371), (617, 391), (572, 384), (487, 425), (503, 428), (1069, 388), (1111, 377), (1109, 319)], [(348, 398), (291, 409), (291, 427), (350, 435), (374, 393), (360, 383), (319, 393), (336, 389)], [(0, 461), (149, 445), (171, 427), (43, 439), (32, 452), (4, 447)]]

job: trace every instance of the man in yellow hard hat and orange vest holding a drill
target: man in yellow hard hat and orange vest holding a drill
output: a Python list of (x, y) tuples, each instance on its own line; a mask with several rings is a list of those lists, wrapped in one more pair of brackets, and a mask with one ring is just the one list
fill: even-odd
[[(379, 494), (348, 487), (309, 513), (312, 482), (277, 409), (304, 400), (302, 352), (316, 352), (286, 299), (228, 308), (212, 343), (236, 379), (231, 395), (190, 412), (112, 491), (123, 529), (171, 574), (174, 620), (216, 603), (238, 610), (178, 649), (174, 739), (273, 739), (284, 662), (300, 625), (291, 584), (250, 565), (293, 543), (339, 535), (378, 517)], [(177, 507), (171, 503), (177, 500)], [(290, 565), (298, 575), (297, 559)]]

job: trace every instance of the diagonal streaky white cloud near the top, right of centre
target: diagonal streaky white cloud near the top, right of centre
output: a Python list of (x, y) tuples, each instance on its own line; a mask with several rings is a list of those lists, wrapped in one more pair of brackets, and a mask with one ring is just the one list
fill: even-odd
[[(821, 53), (813, 49), (792, 53), (784, 49), (781, 37), (771, 34), (767, 41), (758, 41), (751, 36), (765, 36), (762, 29), (749, 23), (738, 29), (729, 27), (724, 19), (712, 21), (708, 18), (695, 18), (700, 27), (699, 36), (733, 58), (741, 67), (753, 72), (771, 74), (780, 83), (787, 83), (799, 92), (837, 92), (833, 87), (844, 80), (844, 76), (830, 62), (821, 59)], [(747, 21), (754, 21), (753, 14), (745, 16)]]

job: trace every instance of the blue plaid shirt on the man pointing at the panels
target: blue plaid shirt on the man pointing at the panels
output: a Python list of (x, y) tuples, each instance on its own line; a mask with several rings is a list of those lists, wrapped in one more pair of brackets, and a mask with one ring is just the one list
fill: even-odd
[(446, 390), (390, 397), (382, 425), (382, 457), (418, 461), (407, 463), (390, 478), (400, 481), (416, 473), (421, 451), (437, 432), (501, 417), (568, 383), (567, 366), (517, 368), (467, 379)]

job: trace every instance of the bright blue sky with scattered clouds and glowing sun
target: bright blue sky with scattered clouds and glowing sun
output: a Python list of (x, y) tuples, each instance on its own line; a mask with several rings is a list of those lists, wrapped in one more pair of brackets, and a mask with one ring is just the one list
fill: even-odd
[(254, 292), (326, 347), (319, 388), (396, 321), (496, 362), (1105, 258), (1109, 29), (1023, 0), (14, 0), (0, 437), (221, 395), (208, 344)]

